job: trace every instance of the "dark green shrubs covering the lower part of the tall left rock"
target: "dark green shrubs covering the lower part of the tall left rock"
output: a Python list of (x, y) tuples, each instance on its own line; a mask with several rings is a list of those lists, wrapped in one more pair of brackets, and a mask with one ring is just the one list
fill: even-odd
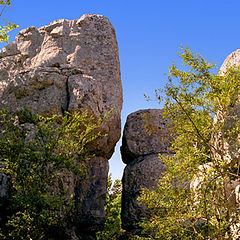
[(1, 239), (64, 239), (74, 212), (72, 181), (87, 177), (88, 146), (102, 136), (103, 120), (87, 112), (42, 117), (0, 110), (0, 173), (11, 179)]

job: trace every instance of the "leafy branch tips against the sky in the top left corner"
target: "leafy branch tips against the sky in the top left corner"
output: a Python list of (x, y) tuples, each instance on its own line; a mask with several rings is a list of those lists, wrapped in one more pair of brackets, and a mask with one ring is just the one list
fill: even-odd
[[(0, 17), (3, 16), (4, 10), (6, 9), (6, 7), (9, 7), (9, 6), (11, 6), (10, 0), (0, 1)], [(3, 23), (0, 25), (0, 42), (8, 43), (9, 41), (8, 33), (16, 28), (18, 28), (17, 24), (4, 20)]]

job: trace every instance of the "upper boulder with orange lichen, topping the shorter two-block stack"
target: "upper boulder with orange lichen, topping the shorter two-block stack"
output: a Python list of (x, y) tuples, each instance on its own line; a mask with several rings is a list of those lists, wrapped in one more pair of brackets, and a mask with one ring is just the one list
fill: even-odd
[(142, 155), (169, 153), (171, 138), (166, 129), (169, 120), (163, 119), (162, 114), (160, 109), (145, 109), (127, 117), (121, 146), (124, 163)]

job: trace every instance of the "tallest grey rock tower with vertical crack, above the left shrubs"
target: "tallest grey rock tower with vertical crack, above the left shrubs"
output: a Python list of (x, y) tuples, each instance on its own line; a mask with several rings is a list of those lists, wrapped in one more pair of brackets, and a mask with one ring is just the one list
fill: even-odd
[[(95, 157), (88, 166), (90, 179), (75, 186), (75, 235), (91, 239), (86, 232), (94, 236), (104, 223), (108, 159), (121, 134), (118, 45), (109, 20), (84, 15), (20, 31), (0, 53), (3, 107), (11, 111), (28, 107), (45, 116), (88, 110), (97, 118), (114, 108), (102, 127), (107, 136), (95, 144)], [(0, 189), (6, 185), (4, 180), (0, 184)]]

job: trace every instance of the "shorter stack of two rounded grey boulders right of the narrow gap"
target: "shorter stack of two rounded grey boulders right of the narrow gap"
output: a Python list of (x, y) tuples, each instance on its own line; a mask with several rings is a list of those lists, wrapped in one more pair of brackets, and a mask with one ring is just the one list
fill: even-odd
[(173, 154), (169, 151), (169, 123), (160, 109), (140, 110), (127, 117), (121, 146), (122, 160), (127, 164), (122, 179), (122, 226), (129, 232), (137, 233), (137, 223), (147, 216), (137, 200), (141, 188), (156, 186), (164, 172), (158, 154)]

